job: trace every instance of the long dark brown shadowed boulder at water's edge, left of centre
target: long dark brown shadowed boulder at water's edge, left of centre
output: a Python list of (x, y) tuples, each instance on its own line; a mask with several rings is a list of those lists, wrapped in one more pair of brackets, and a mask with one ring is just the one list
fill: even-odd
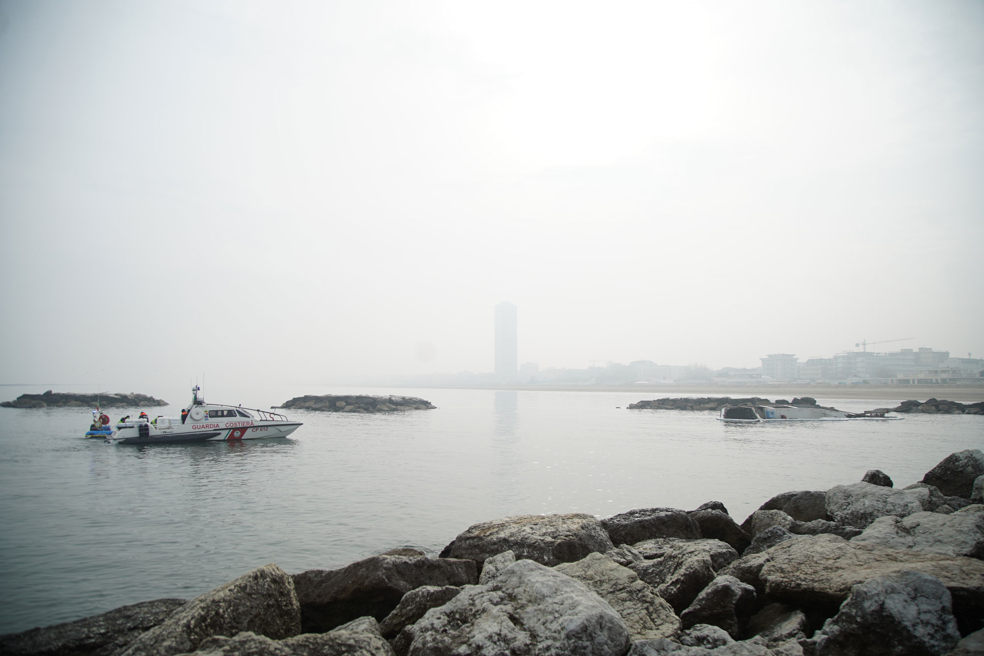
[(473, 560), (373, 556), (340, 569), (309, 569), (293, 575), (305, 633), (323, 633), (355, 618), (384, 620), (400, 599), (421, 585), (478, 582)]

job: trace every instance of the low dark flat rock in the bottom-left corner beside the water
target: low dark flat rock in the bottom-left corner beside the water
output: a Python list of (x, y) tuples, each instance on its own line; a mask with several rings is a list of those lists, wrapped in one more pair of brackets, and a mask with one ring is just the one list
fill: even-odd
[(162, 623), (186, 603), (184, 599), (156, 599), (121, 606), (75, 622), (0, 635), (0, 653), (11, 656), (109, 656), (144, 631)]

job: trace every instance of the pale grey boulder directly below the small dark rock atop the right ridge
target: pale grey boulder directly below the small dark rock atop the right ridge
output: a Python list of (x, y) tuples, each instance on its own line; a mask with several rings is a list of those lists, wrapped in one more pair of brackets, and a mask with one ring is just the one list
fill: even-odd
[(907, 517), (922, 512), (928, 499), (929, 492), (925, 489), (894, 490), (870, 483), (853, 483), (834, 486), (827, 491), (827, 512), (838, 524), (864, 529), (879, 517)]

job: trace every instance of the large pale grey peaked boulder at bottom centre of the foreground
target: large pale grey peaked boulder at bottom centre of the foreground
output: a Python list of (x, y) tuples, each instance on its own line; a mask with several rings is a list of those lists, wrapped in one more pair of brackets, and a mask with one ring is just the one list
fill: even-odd
[(465, 587), (400, 632), (410, 656), (598, 654), (621, 656), (629, 628), (581, 582), (517, 560), (492, 583)]

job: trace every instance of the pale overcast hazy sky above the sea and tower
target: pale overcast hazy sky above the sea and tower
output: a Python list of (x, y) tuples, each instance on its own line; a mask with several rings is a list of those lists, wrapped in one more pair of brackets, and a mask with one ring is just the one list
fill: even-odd
[(984, 3), (0, 0), (0, 382), (984, 356)]

